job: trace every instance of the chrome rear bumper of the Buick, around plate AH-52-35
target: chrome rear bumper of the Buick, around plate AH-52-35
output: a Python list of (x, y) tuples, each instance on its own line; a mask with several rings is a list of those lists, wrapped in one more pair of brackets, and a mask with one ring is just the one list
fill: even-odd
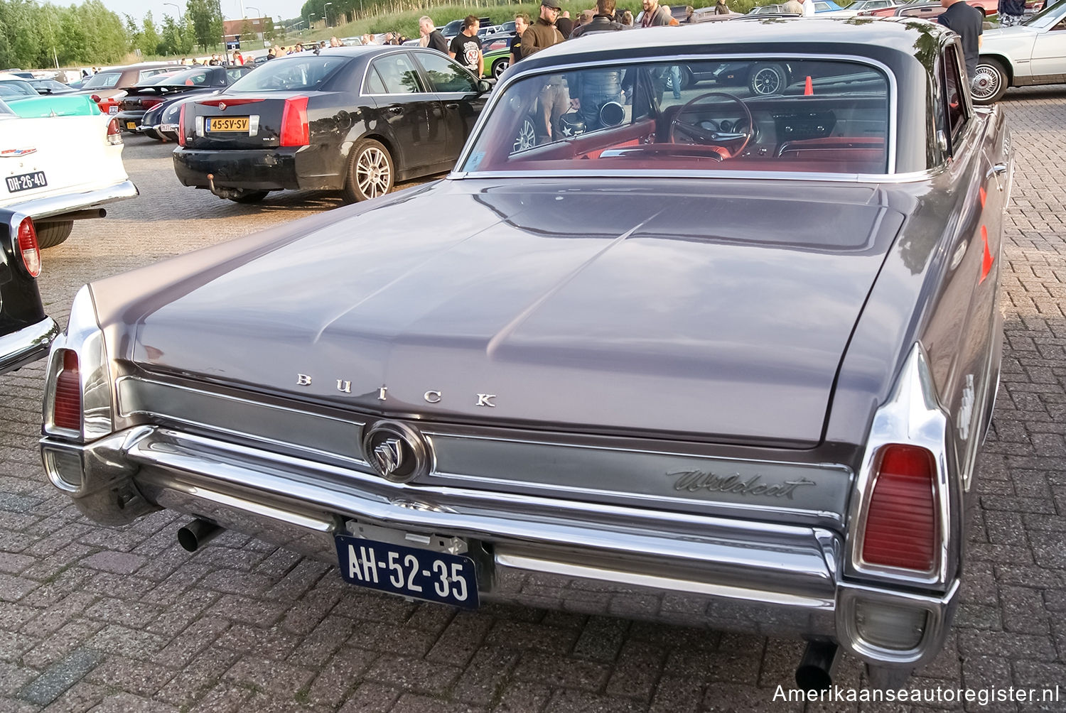
[[(486, 546), (484, 600), (765, 635), (839, 641), (867, 661), (935, 654), (954, 595), (839, 581), (843, 542), (820, 528), (746, 522), (484, 490), (419, 488), (204, 436), (138, 426), (88, 444), (46, 437), (49, 479), (91, 518), (124, 523), (158, 507), (200, 517), (325, 562), (346, 521)], [(861, 646), (856, 597), (927, 610), (904, 659)], [(853, 641), (854, 639), (854, 641)]]

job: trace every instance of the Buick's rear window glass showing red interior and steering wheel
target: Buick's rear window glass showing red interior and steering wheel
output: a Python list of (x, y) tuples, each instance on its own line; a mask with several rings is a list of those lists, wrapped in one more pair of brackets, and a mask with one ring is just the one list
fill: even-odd
[(504, 90), (461, 171), (884, 174), (889, 104), (882, 70), (842, 60), (538, 75)]

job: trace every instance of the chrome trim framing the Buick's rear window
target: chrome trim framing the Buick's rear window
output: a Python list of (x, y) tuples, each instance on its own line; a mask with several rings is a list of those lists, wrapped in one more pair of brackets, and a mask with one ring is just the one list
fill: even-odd
[[(888, 151), (888, 167), (886, 168), (886, 173), (885, 174), (874, 174), (874, 175), (876, 175), (878, 177), (881, 177), (881, 176), (893, 176), (893, 175), (895, 175), (895, 153), (897, 153), (897, 143), (898, 143), (898, 136), (897, 136), (897, 134), (898, 134), (898, 126), (897, 126), (898, 120), (897, 120), (897, 117), (899, 115), (899, 86), (898, 86), (897, 81), (895, 81), (895, 75), (894, 75), (894, 72), (891, 71), (891, 69), (889, 69), (888, 65), (884, 64), (883, 62), (878, 62), (877, 60), (873, 60), (873, 59), (870, 59), (870, 58), (863, 58), (863, 56), (857, 56), (857, 55), (854, 55), (854, 54), (812, 54), (812, 53), (797, 53), (797, 54), (790, 54), (787, 58), (782, 58), (780, 55), (780, 53), (776, 53), (776, 52), (754, 52), (754, 53), (733, 53), (733, 52), (731, 52), (731, 53), (727, 53), (727, 54), (691, 54), (690, 53), (690, 54), (678, 54), (676, 56), (671, 56), (671, 58), (661, 58), (661, 56), (660, 58), (644, 58), (644, 59), (640, 60), (640, 62), (644, 62), (644, 63), (647, 63), (647, 64), (652, 64), (652, 63), (677, 64), (679, 62), (690, 62), (690, 61), (692, 61), (692, 62), (706, 62), (706, 61), (715, 62), (715, 61), (720, 61), (720, 60), (723, 61), (723, 62), (726, 62), (726, 61), (729, 61), (729, 60), (776, 60), (778, 62), (790, 62), (790, 61), (794, 61), (794, 60), (844, 61), (844, 62), (853, 62), (853, 63), (858, 63), (858, 64), (865, 64), (865, 65), (868, 65), (868, 66), (875, 67), (875, 68), (879, 69), (882, 71), (882, 74), (885, 75), (886, 79), (888, 80), (888, 136), (887, 136), (887, 141), (886, 141), (886, 150)], [(470, 135), (467, 139), (466, 144), (464, 144), (463, 150), (459, 152), (458, 159), (455, 161), (456, 168), (458, 166), (466, 165), (466, 162), (470, 158), (470, 153), (473, 150), (473, 145), (477, 143), (478, 140), (481, 139), (481, 134), (482, 134), (482, 131), (485, 128), (485, 121), (487, 120), (487, 117), (489, 115), (491, 115), (491, 113), (494, 111), (496, 111), (496, 104), (498, 104), (500, 102), (500, 100), (501, 100), (500, 97), (502, 97), (506, 93), (507, 88), (513, 83), (515, 83), (516, 81), (519, 81), (519, 80), (526, 80), (526, 79), (529, 79), (531, 77), (538, 77), (538, 76), (542, 76), (542, 75), (558, 75), (558, 74), (560, 74), (561, 70), (563, 70), (563, 71), (570, 71), (570, 70), (575, 70), (575, 69), (584, 69), (584, 68), (597, 69), (597, 68), (602, 68), (602, 66), (603, 66), (602, 62), (600, 62), (600, 61), (587, 60), (587, 61), (584, 61), (584, 62), (575, 62), (575, 63), (571, 63), (571, 64), (567, 64), (565, 67), (545, 67), (545, 68), (542, 68), (542, 69), (537, 69), (536, 71), (531, 71), (531, 72), (528, 72), (528, 74), (527, 72), (513, 74), (510, 77), (507, 77), (505, 79), (505, 81), (503, 82), (502, 86), (500, 86), (499, 84), (497, 85), (496, 90), (492, 92), (492, 96), (489, 97), (488, 102), (485, 104), (485, 108), (482, 110), (481, 115), (478, 116), (478, 123), (474, 124), (473, 129), (470, 130)], [(532, 176), (531, 174), (529, 174), (527, 172), (505, 172), (505, 173), (508, 173), (508, 174), (519, 174), (519, 175), (522, 175), (522, 176)], [(564, 173), (565, 175), (569, 175), (568, 172), (556, 172), (554, 174), (551, 174), (551, 176), (552, 177), (558, 177), (560, 175), (560, 173)], [(742, 172), (733, 172), (731, 175), (733, 177), (739, 177), (738, 174), (740, 174), (740, 173), (742, 173)], [(773, 172), (754, 172), (754, 173), (760, 173), (760, 174), (763, 174), (763, 175), (766, 175), (766, 174), (774, 175)], [(487, 177), (488, 175), (489, 174), (487, 172), (462, 172), (462, 173), (458, 173), (458, 172), (453, 171), (451, 174), (449, 174), (449, 178), (453, 178), (453, 177), (454, 178), (461, 178), (461, 177), (481, 178), (483, 176)], [(602, 172), (600, 172), (599, 175), (602, 175)], [(612, 173), (609, 173), (608, 175), (609, 176), (616, 176), (616, 175), (620, 175), (620, 174), (612, 172)], [(693, 175), (693, 174), (691, 172), (672, 171), (672, 172), (669, 172), (669, 175), (674, 176), (674, 177), (679, 177), (679, 176), (690, 176), (690, 175)], [(850, 174), (819, 174), (819, 175), (820, 176), (821, 175), (828, 175), (828, 176), (844, 176), (844, 177), (846, 177)], [(847, 179), (845, 178), (845, 180), (847, 180)]]

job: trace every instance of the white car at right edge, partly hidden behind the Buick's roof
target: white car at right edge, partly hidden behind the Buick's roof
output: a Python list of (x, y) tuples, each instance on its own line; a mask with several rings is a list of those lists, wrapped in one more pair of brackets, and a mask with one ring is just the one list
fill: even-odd
[(973, 101), (999, 101), (1012, 86), (1066, 82), (1066, 2), (1010, 28), (985, 30), (973, 78)]

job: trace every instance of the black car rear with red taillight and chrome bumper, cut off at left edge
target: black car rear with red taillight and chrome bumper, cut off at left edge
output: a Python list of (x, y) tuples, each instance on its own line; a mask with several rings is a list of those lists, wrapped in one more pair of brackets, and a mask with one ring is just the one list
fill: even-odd
[(46, 354), (59, 327), (37, 291), (41, 248), (33, 220), (0, 208), (0, 374)]

